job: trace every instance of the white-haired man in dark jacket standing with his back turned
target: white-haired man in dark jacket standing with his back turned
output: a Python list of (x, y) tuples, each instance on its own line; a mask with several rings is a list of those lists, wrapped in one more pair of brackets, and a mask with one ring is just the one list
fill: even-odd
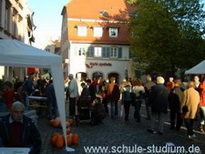
[(168, 95), (169, 91), (164, 86), (164, 78), (157, 77), (157, 85), (151, 88), (149, 102), (151, 104), (151, 128), (147, 131), (150, 133), (163, 134), (164, 117), (168, 111)]

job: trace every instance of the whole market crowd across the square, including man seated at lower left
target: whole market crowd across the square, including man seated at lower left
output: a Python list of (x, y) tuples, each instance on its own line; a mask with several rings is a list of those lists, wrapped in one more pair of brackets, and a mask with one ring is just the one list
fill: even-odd
[[(98, 125), (102, 123), (106, 116), (111, 119), (119, 117), (124, 118), (125, 122), (133, 116), (137, 123), (142, 122), (140, 109), (142, 103), (146, 108), (146, 119), (150, 120), (150, 126), (147, 128), (149, 133), (164, 133), (164, 120), (167, 114), (170, 115), (170, 129), (180, 130), (183, 123), (187, 128), (188, 138), (195, 138), (194, 124), (196, 118), (200, 120), (199, 131), (204, 133), (205, 125), (205, 78), (201, 80), (199, 76), (194, 76), (189, 81), (182, 81), (180, 78), (169, 77), (166, 82), (162, 76), (152, 80), (151, 75), (146, 75), (146, 82), (139, 78), (124, 79), (122, 83), (117, 83), (115, 77), (109, 80), (102, 80), (101, 77), (77, 81), (73, 74), (69, 74), (65, 80), (65, 100), (69, 104), (70, 117), (75, 117), (80, 111), (78, 108), (81, 101), (89, 102), (91, 111), (91, 124)], [(7, 118), (3, 118), (0, 123), (0, 133), (5, 132), (5, 128), (10, 130), (18, 129), (19, 134), (23, 133), (26, 125), (34, 128), (35, 136), (30, 132), (27, 139), (35, 142), (21, 142), (19, 137), (7, 141), (4, 134), (0, 134), (0, 145), (6, 146), (37, 146), (38, 151), (41, 144), (40, 134), (37, 128), (32, 124), (32, 120), (25, 118), (23, 111), (28, 107), (29, 95), (47, 97), (47, 118), (53, 119), (59, 116), (56, 102), (55, 90), (52, 79), (35, 78), (30, 75), (24, 82), (16, 80), (1, 82), (0, 84), (0, 111), (9, 111)], [(119, 108), (119, 105), (123, 108)], [(109, 106), (109, 107), (108, 107)], [(134, 114), (130, 115), (130, 108), (133, 107)], [(186, 110), (185, 110), (186, 108)], [(109, 111), (110, 109), (110, 111)], [(122, 112), (124, 114), (122, 114)], [(27, 119), (28, 118), (28, 119)], [(17, 122), (18, 124), (13, 124)], [(5, 127), (6, 126), (6, 127)], [(30, 130), (29, 130), (30, 131)], [(35, 139), (34, 139), (35, 138)]]

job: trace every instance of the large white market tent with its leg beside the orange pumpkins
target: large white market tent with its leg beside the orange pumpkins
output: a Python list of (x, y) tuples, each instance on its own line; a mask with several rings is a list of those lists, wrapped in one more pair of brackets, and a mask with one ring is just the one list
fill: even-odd
[[(66, 114), (62, 58), (18, 40), (0, 40), (0, 66), (50, 68), (56, 93), (57, 105), (66, 138)], [(66, 143), (67, 145), (67, 143)], [(66, 146), (69, 151), (71, 148)], [(72, 150), (72, 149), (71, 149)]]

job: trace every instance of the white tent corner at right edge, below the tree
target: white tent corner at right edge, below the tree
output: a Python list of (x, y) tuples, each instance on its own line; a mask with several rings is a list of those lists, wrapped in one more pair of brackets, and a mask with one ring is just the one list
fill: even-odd
[(205, 74), (205, 60), (185, 71), (185, 74)]

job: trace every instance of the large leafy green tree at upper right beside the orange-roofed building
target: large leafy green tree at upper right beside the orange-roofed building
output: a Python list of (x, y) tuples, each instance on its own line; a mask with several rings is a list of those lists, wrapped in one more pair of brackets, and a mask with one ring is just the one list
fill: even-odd
[(129, 2), (138, 8), (129, 24), (131, 51), (138, 66), (152, 73), (175, 72), (205, 58), (201, 47), (205, 16), (199, 0)]

